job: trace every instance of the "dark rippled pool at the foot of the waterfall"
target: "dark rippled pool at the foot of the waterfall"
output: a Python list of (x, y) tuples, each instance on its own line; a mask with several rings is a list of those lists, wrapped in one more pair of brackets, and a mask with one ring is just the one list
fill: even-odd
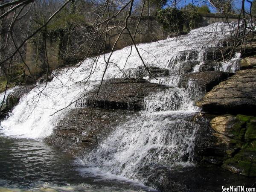
[[(0, 135), (0, 192), (19, 191), (150, 191), (139, 183), (81, 175), (70, 155), (43, 142)], [(90, 171), (90, 170), (88, 170)]]

